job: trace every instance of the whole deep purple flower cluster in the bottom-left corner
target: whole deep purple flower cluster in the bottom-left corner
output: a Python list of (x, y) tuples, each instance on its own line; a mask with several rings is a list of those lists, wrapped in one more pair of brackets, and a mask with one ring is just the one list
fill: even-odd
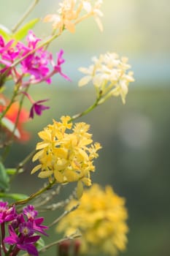
[[(28, 252), (29, 255), (39, 255), (35, 244), (41, 236), (36, 233), (47, 236), (47, 226), (42, 225), (44, 218), (37, 215), (34, 206), (26, 206), (18, 214), (15, 206), (9, 207), (7, 202), (0, 202), (1, 249), (4, 255), (15, 256), (20, 250)], [(6, 225), (9, 236), (5, 234)], [(5, 244), (9, 244), (9, 248)]]

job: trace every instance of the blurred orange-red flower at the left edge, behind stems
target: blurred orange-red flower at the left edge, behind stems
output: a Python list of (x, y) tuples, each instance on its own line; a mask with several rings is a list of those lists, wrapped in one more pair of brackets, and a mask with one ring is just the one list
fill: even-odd
[[(0, 94), (0, 113), (3, 112), (7, 105), (9, 104), (9, 99), (5, 98), (4, 95)], [(3, 118), (1, 118), (1, 127), (3, 130), (0, 132), (5, 132), (8, 137), (14, 134), (14, 138), (20, 142), (26, 141), (30, 138), (30, 134), (23, 129), (23, 124), (28, 121), (29, 113), (26, 109), (22, 108), (20, 110), (20, 115), (18, 117), (18, 111), (20, 109), (19, 103), (12, 103), (9, 110)], [(18, 124), (15, 128), (15, 122), (18, 119)]]

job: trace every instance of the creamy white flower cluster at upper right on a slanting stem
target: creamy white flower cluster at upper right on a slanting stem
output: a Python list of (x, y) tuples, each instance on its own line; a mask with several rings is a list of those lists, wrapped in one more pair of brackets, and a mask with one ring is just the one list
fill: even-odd
[(101, 54), (99, 58), (93, 57), (93, 65), (90, 67), (80, 67), (80, 72), (85, 74), (79, 82), (79, 86), (85, 86), (92, 80), (96, 88), (98, 105), (103, 103), (111, 96), (119, 96), (125, 103), (125, 97), (128, 93), (129, 82), (134, 81), (133, 72), (127, 72), (131, 66), (127, 64), (128, 59), (123, 57), (119, 59), (117, 53)]

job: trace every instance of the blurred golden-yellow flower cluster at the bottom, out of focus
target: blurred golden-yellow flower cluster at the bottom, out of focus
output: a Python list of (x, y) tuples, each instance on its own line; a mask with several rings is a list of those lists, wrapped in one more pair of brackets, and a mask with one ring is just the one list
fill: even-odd
[[(76, 204), (72, 200), (67, 209)], [(112, 187), (101, 189), (93, 184), (86, 189), (80, 199), (80, 206), (63, 217), (56, 230), (67, 236), (80, 230), (82, 233), (82, 253), (116, 255), (123, 251), (127, 242), (128, 213), (125, 200), (113, 192)]]

